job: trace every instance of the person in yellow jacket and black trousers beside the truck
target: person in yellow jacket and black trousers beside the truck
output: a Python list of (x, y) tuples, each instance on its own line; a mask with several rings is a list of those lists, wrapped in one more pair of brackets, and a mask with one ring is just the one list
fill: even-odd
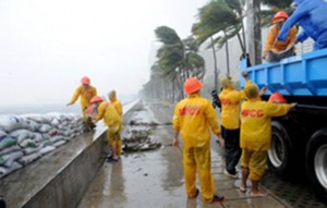
[[(242, 72), (245, 78), (245, 86), (251, 83), (247, 71)], [(220, 81), (222, 90), (219, 94), (221, 103), (221, 135), (225, 139), (225, 161), (223, 173), (232, 179), (238, 179), (237, 164), (241, 157), (240, 148), (240, 112), (241, 101), (245, 99), (244, 90), (237, 90), (231, 77), (223, 77)]]

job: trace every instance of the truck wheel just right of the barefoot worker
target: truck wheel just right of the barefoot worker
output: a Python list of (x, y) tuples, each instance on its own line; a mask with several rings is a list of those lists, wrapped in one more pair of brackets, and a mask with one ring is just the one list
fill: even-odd
[(271, 122), (271, 147), (268, 150), (268, 168), (280, 178), (287, 178), (292, 170), (291, 138), (277, 121)]

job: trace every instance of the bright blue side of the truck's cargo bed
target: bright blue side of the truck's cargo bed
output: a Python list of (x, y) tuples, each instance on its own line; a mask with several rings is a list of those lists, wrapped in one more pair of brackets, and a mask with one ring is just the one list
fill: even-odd
[[(284, 96), (327, 96), (327, 49), (280, 62), (246, 65), (246, 59), (242, 60), (241, 71), (249, 71), (250, 79), (259, 88), (268, 87), (268, 95), (278, 91)], [(241, 79), (241, 87), (244, 87), (244, 79)]]

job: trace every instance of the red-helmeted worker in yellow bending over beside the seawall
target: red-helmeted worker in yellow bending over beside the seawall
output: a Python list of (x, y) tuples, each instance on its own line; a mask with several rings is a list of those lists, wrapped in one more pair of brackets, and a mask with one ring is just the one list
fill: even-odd
[(95, 96), (90, 100), (90, 105), (96, 105), (98, 114), (94, 118), (96, 121), (104, 119), (105, 124), (107, 125), (107, 138), (109, 145), (111, 146), (112, 150), (112, 159), (117, 161), (119, 159), (119, 151), (118, 151), (118, 143), (120, 142), (120, 132), (121, 132), (121, 124), (122, 119), (114, 110), (113, 106), (108, 102), (104, 101), (100, 96)]

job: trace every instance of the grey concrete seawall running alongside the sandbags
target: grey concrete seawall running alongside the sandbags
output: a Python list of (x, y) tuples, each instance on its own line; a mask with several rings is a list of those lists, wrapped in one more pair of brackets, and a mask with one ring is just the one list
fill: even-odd
[[(124, 106), (130, 110), (138, 100)], [(77, 207), (105, 161), (106, 126), (66, 145), (0, 180), (0, 196), (9, 208)]]

